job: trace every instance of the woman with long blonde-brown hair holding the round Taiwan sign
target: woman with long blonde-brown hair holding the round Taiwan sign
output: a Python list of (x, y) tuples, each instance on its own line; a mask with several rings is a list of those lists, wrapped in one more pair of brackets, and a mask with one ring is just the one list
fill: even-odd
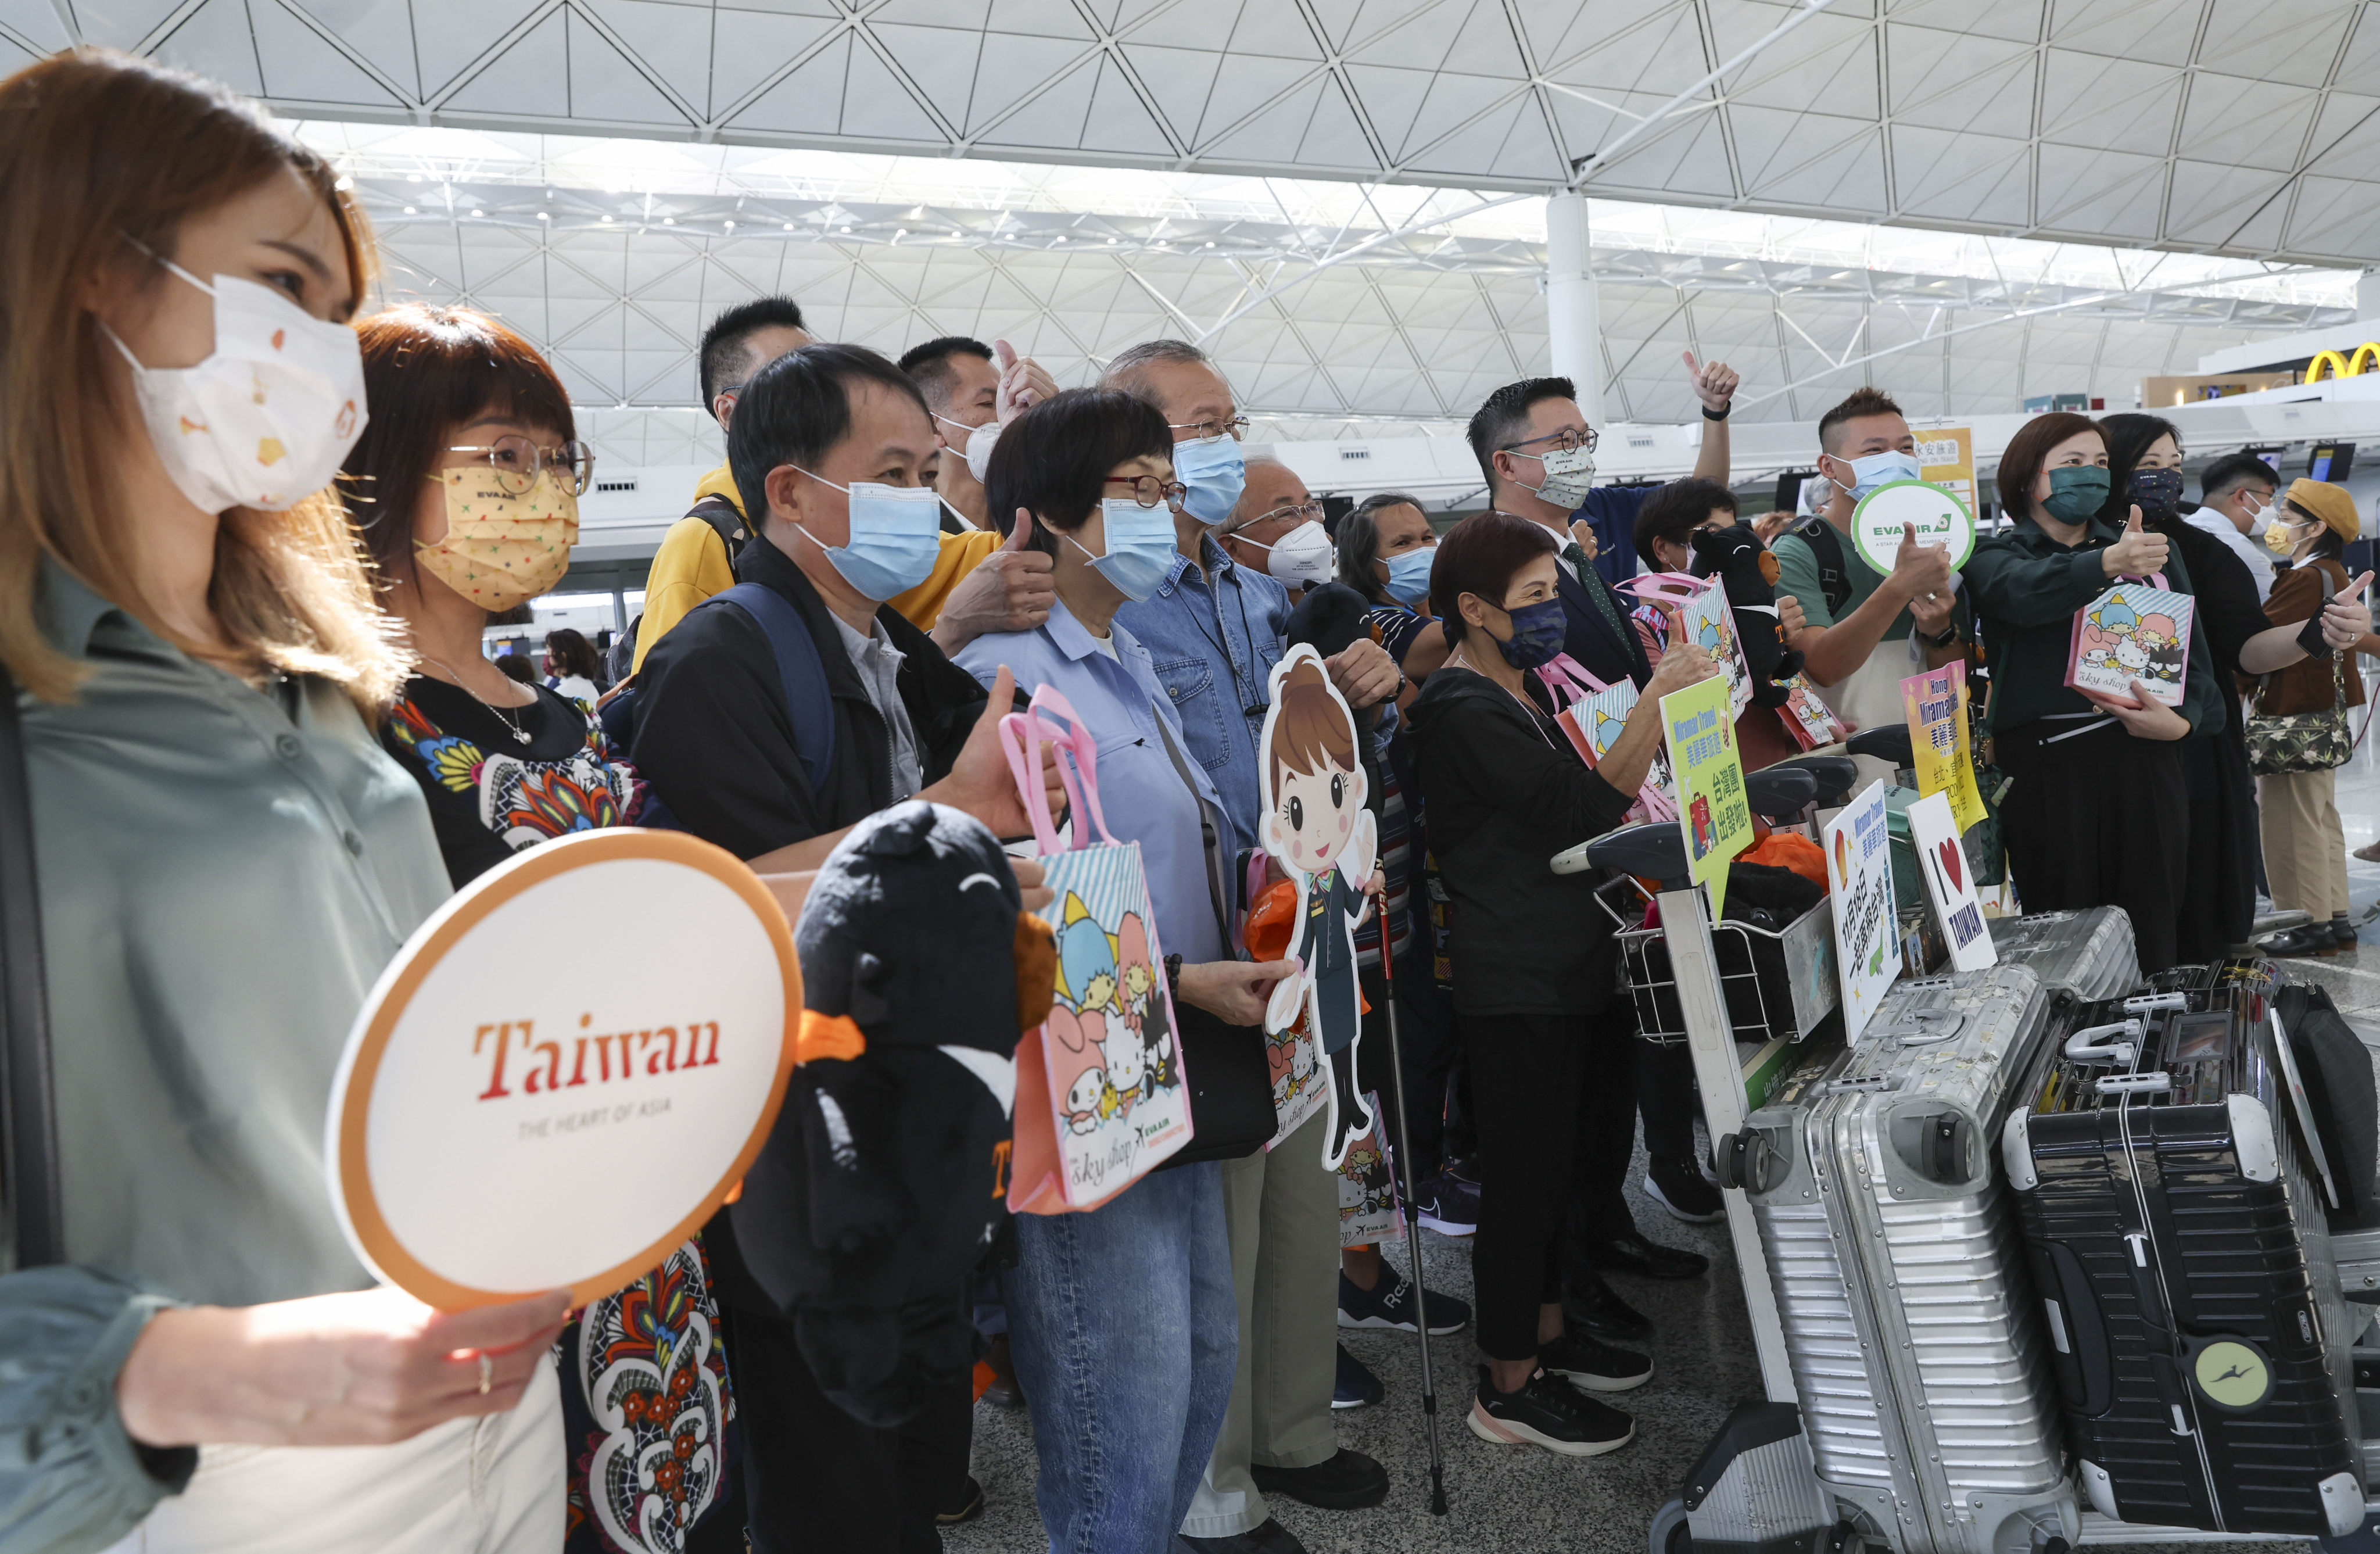
[(378, 1290), (324, 1176), (345, 1033), (447, 895), (326, 490), (367, 255), (214, 86), (0, 81), (0, 1547), (562, 1542), (566, 1295)]

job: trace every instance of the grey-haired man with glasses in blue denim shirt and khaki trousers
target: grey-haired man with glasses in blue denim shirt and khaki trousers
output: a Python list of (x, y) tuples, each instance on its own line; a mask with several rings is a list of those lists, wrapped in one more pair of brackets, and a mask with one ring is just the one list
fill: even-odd
[[(1269, 676), (1288, 650), (1290, 595), (1240, 566), (1214, 540), (1240, 500), (1247, 421), (1230, 386), (1195, 345), (1152, 340), (1119, 355), (1100, 378), (1164, 412), (1173, 428), (1173, 478), (1190, 488), (1176, 514), (1176, 557), (1164, 585), (1116, 612), (1152, 659), (1190, 754), (1214, 778), (1240, 835), (1257, 828), (1264, 790), (1257, 747)], [(1328, 662), (1352, 707), (1404, 688), (1378, 643)], [(1240, 1371), (1214, 1459), (1183, 1542), (1200, 1554), (1302, 1554), (1264, 1506), (1280, 1492), (1326, 1509), (1373, 1506), (1388, 1473), (1342, 1452), (1330, 1428), (1338, 1359), (1338, 1173), (1321, 1164), (1323, 1118), (1309, 1118), (1271, 1152), (1223, 1161), (1223, 1218), (1240, 1302)], [(1264, 1356), (1257, 1368), (1252, 1361)]]

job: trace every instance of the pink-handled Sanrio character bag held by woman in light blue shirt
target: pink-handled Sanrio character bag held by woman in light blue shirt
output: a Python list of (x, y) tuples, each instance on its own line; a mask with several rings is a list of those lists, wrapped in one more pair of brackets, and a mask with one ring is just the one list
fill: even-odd
[[(1061, 847), (1040, 783), (1040, 745), (1059, 752), (1073, 804)], [(1042, 873), (1057, 892), (1040, 916), (1057, 933), (1057, 997), (1016, 1042), (1016, 1157), (1009, 1209), (1097, 1209), (1190, 1142), (1190, 1088), (1173, 1040), (1166, 952), (1150, 914), (1140, 842), (1119, 842), (1100, 814), (1097, 740), (1066, 697), (1042, 685), (1031, 712), (1000, 719)]]

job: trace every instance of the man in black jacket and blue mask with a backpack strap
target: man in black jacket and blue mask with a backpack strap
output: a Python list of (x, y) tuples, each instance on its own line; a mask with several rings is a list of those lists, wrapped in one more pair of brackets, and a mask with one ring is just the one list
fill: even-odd
[[(933, 452), (926, 402), (871, 350), (809, 345), (743, 388), (728, 466), (745, 512), (762, 521), (738, 559), (740, 578), (793, 607), (812, 652), (785, 662), (814, 657), (831, 712), (795, 726), (800, 688), (785, 685), (757, 616), (721, 595), (645, 659), (633, 754), (685, 831), (764, 873), (816, 869), (845, 831), (904, 797), (964, 809), (995, 835), (1031, 831), (992, 716), (1014, 697), (1007, 669), (988, 702), (971, 673), (883, 607), (916, 583), (904, 569), (931, 566), (935, 526), (926, 512), (923, 545), (888, 543), (885, 493), (869, 485), (926, 485)], [(857, 526), (852, 485), (869, 507)], [(807, 690), (816, 707), (816, 688)], [(1047, 769), (1045, 781), (1054, 785)], [(738, 1235), (800, 1233), (757, 1226), (735, 1209), (704, 1226), (735, 1354), (752, 1549), (933, 1549), (935, 1511), (966, 1497), (966, 1385), (897, 1430), (835, 1409), (735, 1245)]]

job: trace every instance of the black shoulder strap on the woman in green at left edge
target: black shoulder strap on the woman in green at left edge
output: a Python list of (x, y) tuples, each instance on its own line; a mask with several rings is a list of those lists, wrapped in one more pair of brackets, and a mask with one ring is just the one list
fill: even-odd
[(33, 783), (17, 681), (0, 666), (0, 1183), (17, 1230), (17, 1266), (67, 1261), (57, 1190), (57, 1114), (50, 1102), (50, 995), (40, 964), (40, 890), (33, 873)]

